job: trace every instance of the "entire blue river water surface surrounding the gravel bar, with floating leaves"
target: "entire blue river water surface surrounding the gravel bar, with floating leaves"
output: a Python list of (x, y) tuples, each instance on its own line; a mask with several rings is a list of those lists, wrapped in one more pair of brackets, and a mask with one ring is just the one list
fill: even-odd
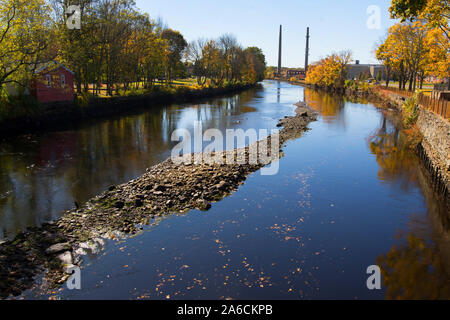
[[(287, 83), (3, 141), (0, 229), (54, 219), (139, 176), (169, 156), (176, 128), (272, 129), (299, 100), (320, 116), (287, 143), (277, 175), (256, 172), (207, 212), (107, 241), (85, 257), (81, 290), (24, 297), (449, 298), (448, 208), (396, 117)], [(385, 271), (380, 290), (367, 288), (371, 265)]]

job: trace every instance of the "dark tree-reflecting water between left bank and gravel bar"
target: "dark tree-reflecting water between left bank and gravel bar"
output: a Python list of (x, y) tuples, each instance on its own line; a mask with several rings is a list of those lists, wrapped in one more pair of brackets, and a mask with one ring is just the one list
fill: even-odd
[(259, 122), (244, 116), (258, 111), (252, 104), (259, 91), (0, 141), (0, 239), (141, 175), (170, 155), (172, 132), (192, 130), (195, 120), (205, 130), (233, 128), (237, 119), (240, 127), (271, 128), (275, 116)]

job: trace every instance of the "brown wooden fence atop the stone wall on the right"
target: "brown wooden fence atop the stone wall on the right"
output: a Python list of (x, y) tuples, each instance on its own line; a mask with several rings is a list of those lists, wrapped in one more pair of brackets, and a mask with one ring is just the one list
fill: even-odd
[[(400, 90), (392, 87), (377, 87), (377, 90), (385, 90), (394, 92), (404, 97), (412, 97), (415, 92)], [(426, 96), (423, 92), (418, 95), (418, 103), (424, 109), (432, 111), (444, 119), (450, 119), (450, 101), (440, 98), (441, 95), (437, 91), (432, 91), (430, 96)]]

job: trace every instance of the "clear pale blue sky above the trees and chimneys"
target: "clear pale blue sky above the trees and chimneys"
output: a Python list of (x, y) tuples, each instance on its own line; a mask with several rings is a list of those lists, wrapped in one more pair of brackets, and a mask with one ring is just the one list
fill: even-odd
[[(310, 27), (310, 58), (351, 50), (360, 63), (377, 63), (374, 49), (387, 29), (390, 0), (136, 0), (151, 18), (161, 17), (190, 42), (234, 35), (244, 47), (263, 50), (268, 65), (278, 64), (278, 33), (283, 25), (283, 67), (303, 67), (306, 27)], [(380, 9), (379, 28), (370, 6)], [(374, 20), (375, 19), (375, 20)], [(373, 24), (372, 24), (373, 25)]]

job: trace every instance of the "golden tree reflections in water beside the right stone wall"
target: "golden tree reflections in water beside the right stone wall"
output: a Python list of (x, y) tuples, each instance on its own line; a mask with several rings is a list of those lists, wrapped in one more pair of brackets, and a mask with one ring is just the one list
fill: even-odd
[[(398, 119), (383, 114), (382, 124), (369, 137), (371, 152), (379, 165), (378, 177), (395, 184), (403, 190), (413, 189), (420, 184), (425, 198), (433, 198), (432, 188), (426, 188), (426, 179), (420, 179), (420, 163), (412, 149), (411, 138), (401, 129)], [(420, 181), (419, 181), (420, 180)], [(442, 206), (429, 207), (429, 219), (434, 215), (446, 214)], [(441, 212), (440, 212), (441, 211)], [(444, 212), (442, 212), (444, 211)], [(437, 219), (439, 220), (439, 219)], [(450, 299), (450, 282), (446, 256), (448, 229), (433, 226), (433, 240), (421, 232), (420, 219), (411, 218), (409, 230), (400, 244), (394, 245), (385, 255), (377, 258), (381, 267), (383, 285), (387, 299)], [(439, 234), (436, 235), (436, 232)], [(448, 248), (447, 248), (448, 249)]]

